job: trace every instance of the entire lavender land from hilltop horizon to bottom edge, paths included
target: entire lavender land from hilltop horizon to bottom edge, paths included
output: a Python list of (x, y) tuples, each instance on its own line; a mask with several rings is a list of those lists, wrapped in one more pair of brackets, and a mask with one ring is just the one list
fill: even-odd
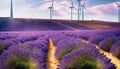
[(5, 18), (0, 31), (0, 69), (120, 69), (119, 23)]

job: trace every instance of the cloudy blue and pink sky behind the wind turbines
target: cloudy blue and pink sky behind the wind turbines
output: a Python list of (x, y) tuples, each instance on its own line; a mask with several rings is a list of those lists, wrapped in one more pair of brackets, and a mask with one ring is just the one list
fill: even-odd
[[(114, 3), (120, 0), (86, 0), (85, 20), (118, 21), (118, 8)], [(83, 0), (84, 2), (84, 0)], [(77, 8), (77, 0), (73, 0)], [(13, 0), (14, 18), (49, 19), (51, 0)], [(71, 0), (55, 0), (53, 19), (70, 17)], [(74, 10), (73, 19), (77, 20), (77, 11)], [(0, 0), (0, 17), (10, 16), (10, 0)]]

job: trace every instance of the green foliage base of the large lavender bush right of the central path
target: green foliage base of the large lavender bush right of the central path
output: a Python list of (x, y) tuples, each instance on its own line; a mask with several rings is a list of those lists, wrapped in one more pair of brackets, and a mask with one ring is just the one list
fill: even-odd
[(89, 58), (80, 58), (73, 61), (67, 69), (102, 69), (100, 63)]

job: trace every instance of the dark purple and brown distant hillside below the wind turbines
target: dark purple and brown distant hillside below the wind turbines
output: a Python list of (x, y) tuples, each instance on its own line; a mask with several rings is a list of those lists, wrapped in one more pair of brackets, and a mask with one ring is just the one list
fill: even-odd
[(53, 31), (120, 29), (120, 23), (104, 21), (0, 18), (0, 31)]

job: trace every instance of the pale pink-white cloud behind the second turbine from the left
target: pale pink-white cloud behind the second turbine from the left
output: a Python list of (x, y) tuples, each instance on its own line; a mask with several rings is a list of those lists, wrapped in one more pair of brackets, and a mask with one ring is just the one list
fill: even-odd
[[(40, 11), (49, 11), (48, 7), (51, 6), (51, 2), (49, 0), (45, 0), (46, 3), (40, 5), (37, 9)], [(69, 1), (54, 1), (54, 15), (55, 16), (65, 16), (69, 13)]]

